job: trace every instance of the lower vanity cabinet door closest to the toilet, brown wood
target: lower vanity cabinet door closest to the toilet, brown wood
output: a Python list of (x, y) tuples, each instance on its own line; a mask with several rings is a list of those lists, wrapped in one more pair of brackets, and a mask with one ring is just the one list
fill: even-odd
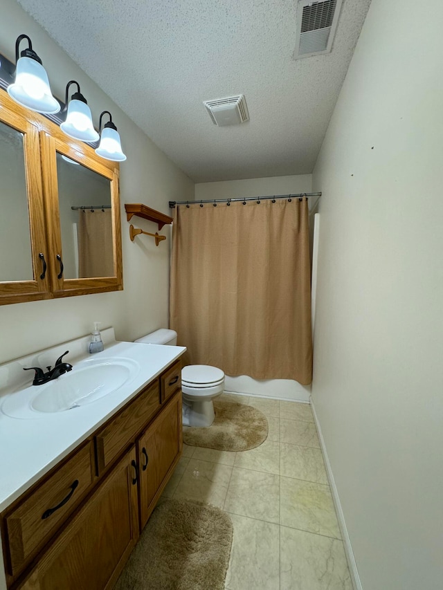
[(178, 391), (150, 428), (138, 439), (141, 528), (154, 510), (156, 499), (179, 459), (181, 441), (181, 391)]

